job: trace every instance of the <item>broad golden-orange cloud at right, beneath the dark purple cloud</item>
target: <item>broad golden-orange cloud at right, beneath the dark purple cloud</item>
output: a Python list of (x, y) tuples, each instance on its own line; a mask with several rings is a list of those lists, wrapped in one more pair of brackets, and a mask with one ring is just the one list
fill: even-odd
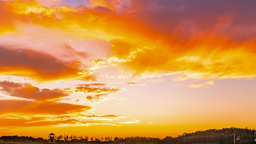
[[(164, 44), (164, 43), (163, 43)], [(175, 80), (238, 79), (256, 76), (255, 42), (231, 43), (224, 39), (207, 38), (190, 42), (166, 43), (154, 49), (137, 52), (119, 65), (135, 76), (154, 77), (168, 73), (179, 74)], [(116, 48), (118, 49), (118, 48)], [(117, 58), (120, 53), (115, 53)], [(166, 73), (163, 73), (167, 71)], [(158, 75), (163, 73), (162, 75)], [(152, 76), (151, 76), (152, 75)]]

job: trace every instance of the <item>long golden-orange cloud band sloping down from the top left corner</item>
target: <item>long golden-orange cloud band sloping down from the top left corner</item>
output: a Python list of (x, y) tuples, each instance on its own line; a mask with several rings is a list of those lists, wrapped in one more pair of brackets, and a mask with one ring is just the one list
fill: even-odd
[[(152, 31), (138, 22), (115, 15), (99, 14), (82, 6), (77, 9), (67, 6), (47, 7), (36, 2), (21, 1), (8, 3), (7, 6), (7, 10), (18, 18), (26, 16), (34, 24), (61, 28), (80, 39), (125, 39), (134, 43), (141, 42), (141, 39), (147, 39), (149, 36), (153, 38)], [(27, 23), (22, 19), (19, 21)], [(133, 34), (130, 33), (131, 30), (134, 31)]]

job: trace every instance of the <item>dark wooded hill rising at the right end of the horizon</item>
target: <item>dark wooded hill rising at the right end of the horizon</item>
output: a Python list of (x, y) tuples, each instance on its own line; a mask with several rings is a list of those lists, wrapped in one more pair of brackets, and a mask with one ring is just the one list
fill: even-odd
[(176, 138), (165, 137), (163, 144), (255, 144), (255, 129), (223, 128), (184, 133)]

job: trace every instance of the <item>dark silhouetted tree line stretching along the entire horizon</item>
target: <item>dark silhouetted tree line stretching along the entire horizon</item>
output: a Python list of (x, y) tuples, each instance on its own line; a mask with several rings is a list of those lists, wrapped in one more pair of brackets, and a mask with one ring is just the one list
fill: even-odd
[[(196, 131), (192, 133), (184, 133), (177, 137), (165, 137), (152, 138), (152, 137), (125, 137), (125, 138), (114, 138), (112, 137), (101, 137), (89, 138), (85, 135), (59, 135), (55, 137), (59, 143), (116, 143), (119, 144), (122, 141), (125, 144), (255, 144), (256, 131), (255, 129), (241, 129), (241, 128), (223, 128), (223, 129), (208, 129), (206, 131)], [(47, 142), (43, 138), (33, 137), (18, 137), (15, 136), (1, 136), (0, 141), (13, 141), (13, 142)]]

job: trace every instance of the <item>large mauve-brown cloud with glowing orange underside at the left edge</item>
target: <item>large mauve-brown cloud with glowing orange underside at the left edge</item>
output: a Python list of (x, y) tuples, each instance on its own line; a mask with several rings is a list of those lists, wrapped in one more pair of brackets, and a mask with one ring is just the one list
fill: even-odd
[(80, 62), (62, 62), (52, 55), (34, 50), (11, 50), (0, 47), (0, 60), (0, 74), (4, 75), (27, 76), (40, 81), (95, 80), (93, 75), (78, 67)]

